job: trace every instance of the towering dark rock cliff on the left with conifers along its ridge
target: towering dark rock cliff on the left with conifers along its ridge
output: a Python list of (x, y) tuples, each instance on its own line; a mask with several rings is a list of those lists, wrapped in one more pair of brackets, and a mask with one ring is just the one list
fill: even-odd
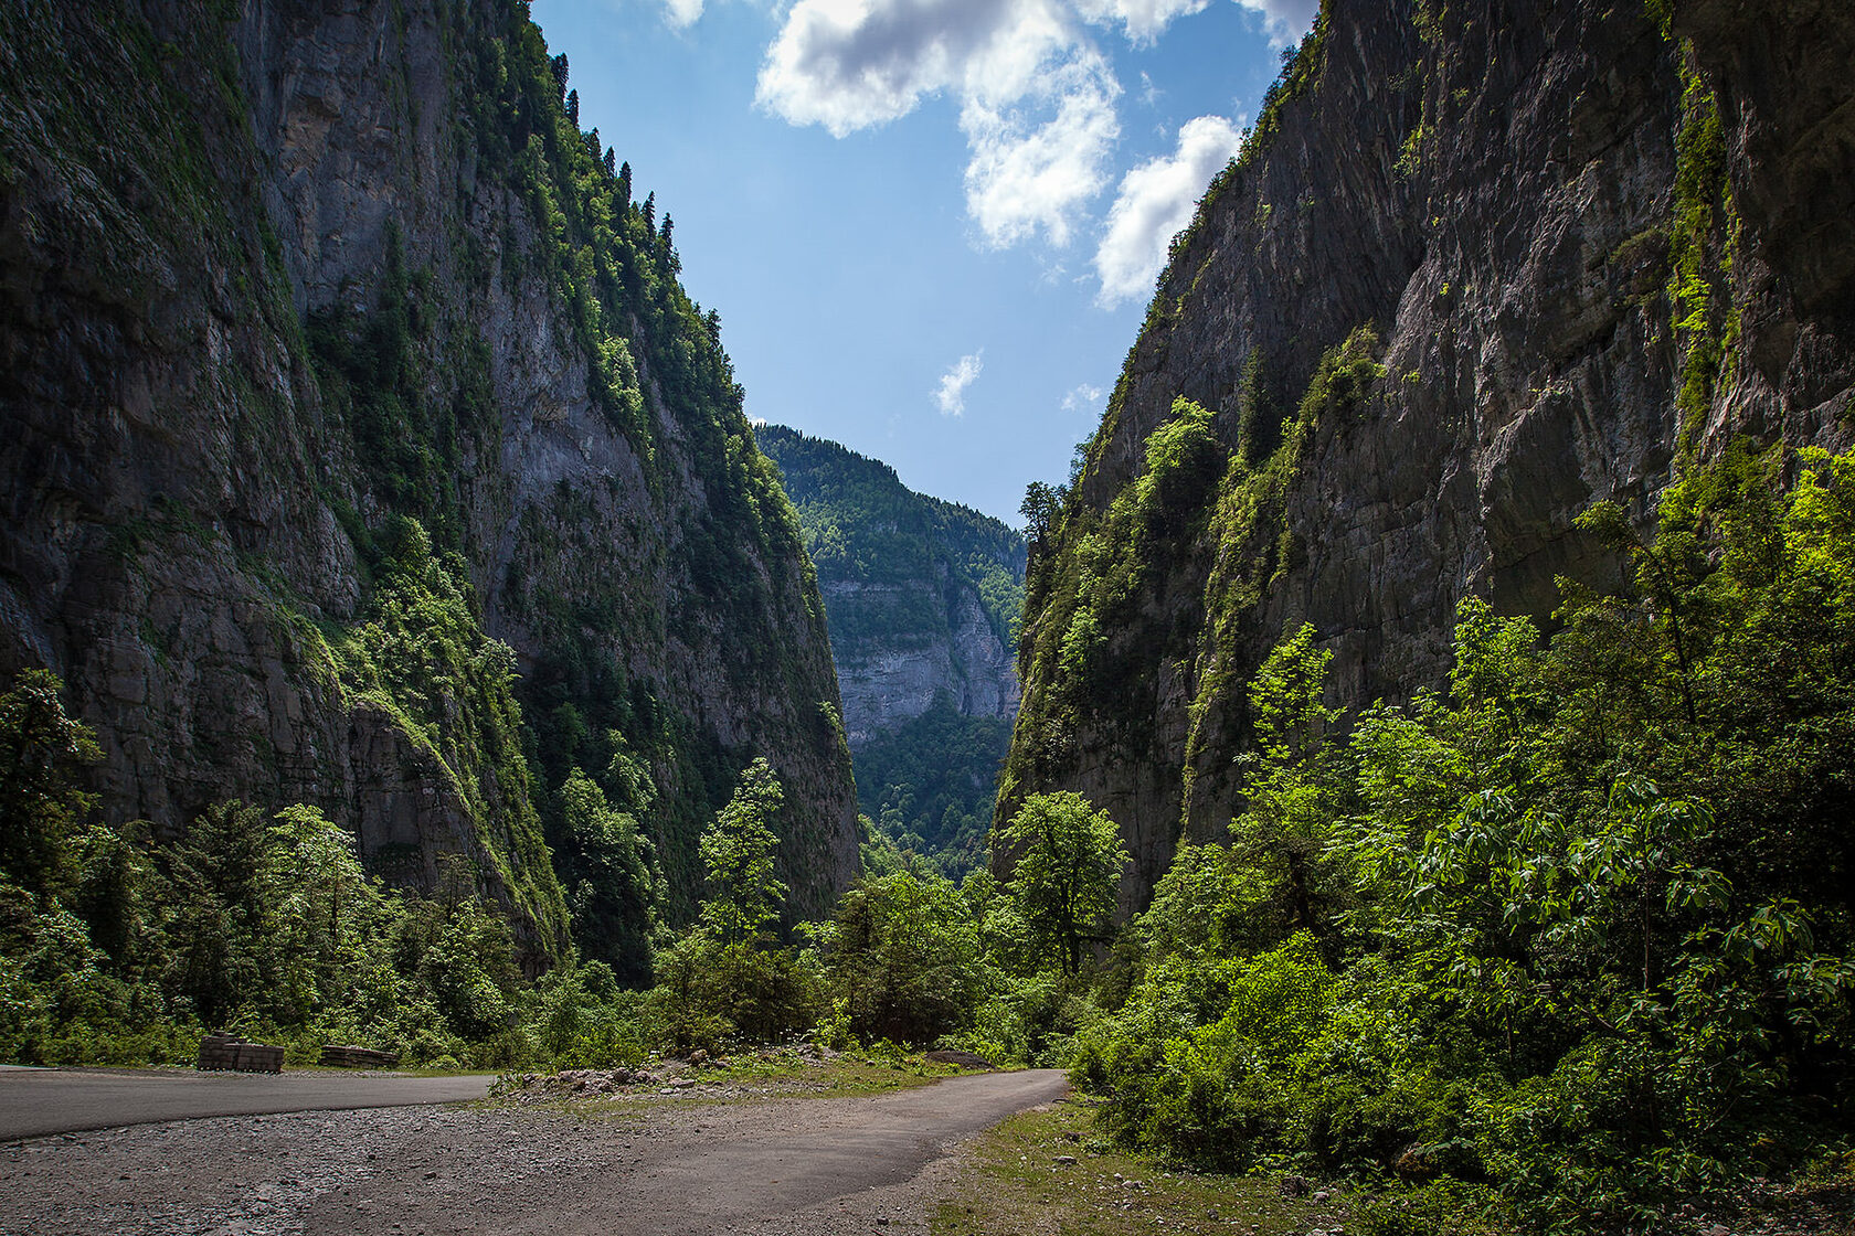
[(857, 862), (790, 504), (564, 69), (516, 0), (0, 17), (0, 673), (108, 813), (315, 802), (542, 952), (571, 767), (673, 914), (755, 754), (796, 910)]

